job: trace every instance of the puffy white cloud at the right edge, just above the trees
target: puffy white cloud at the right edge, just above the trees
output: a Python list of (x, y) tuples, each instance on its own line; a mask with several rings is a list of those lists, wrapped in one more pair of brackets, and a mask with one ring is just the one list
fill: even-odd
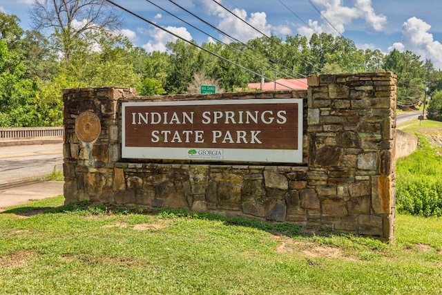
[(402, 42), (395, 43), (388, 50), (410, 50), (420, 55), (422, 60), (431, 59), (434, 68), (442, 69), (442, 44), (434, 41), (428, 32), (431, 26), (422, 19), (411, 17), (402, 26)]

